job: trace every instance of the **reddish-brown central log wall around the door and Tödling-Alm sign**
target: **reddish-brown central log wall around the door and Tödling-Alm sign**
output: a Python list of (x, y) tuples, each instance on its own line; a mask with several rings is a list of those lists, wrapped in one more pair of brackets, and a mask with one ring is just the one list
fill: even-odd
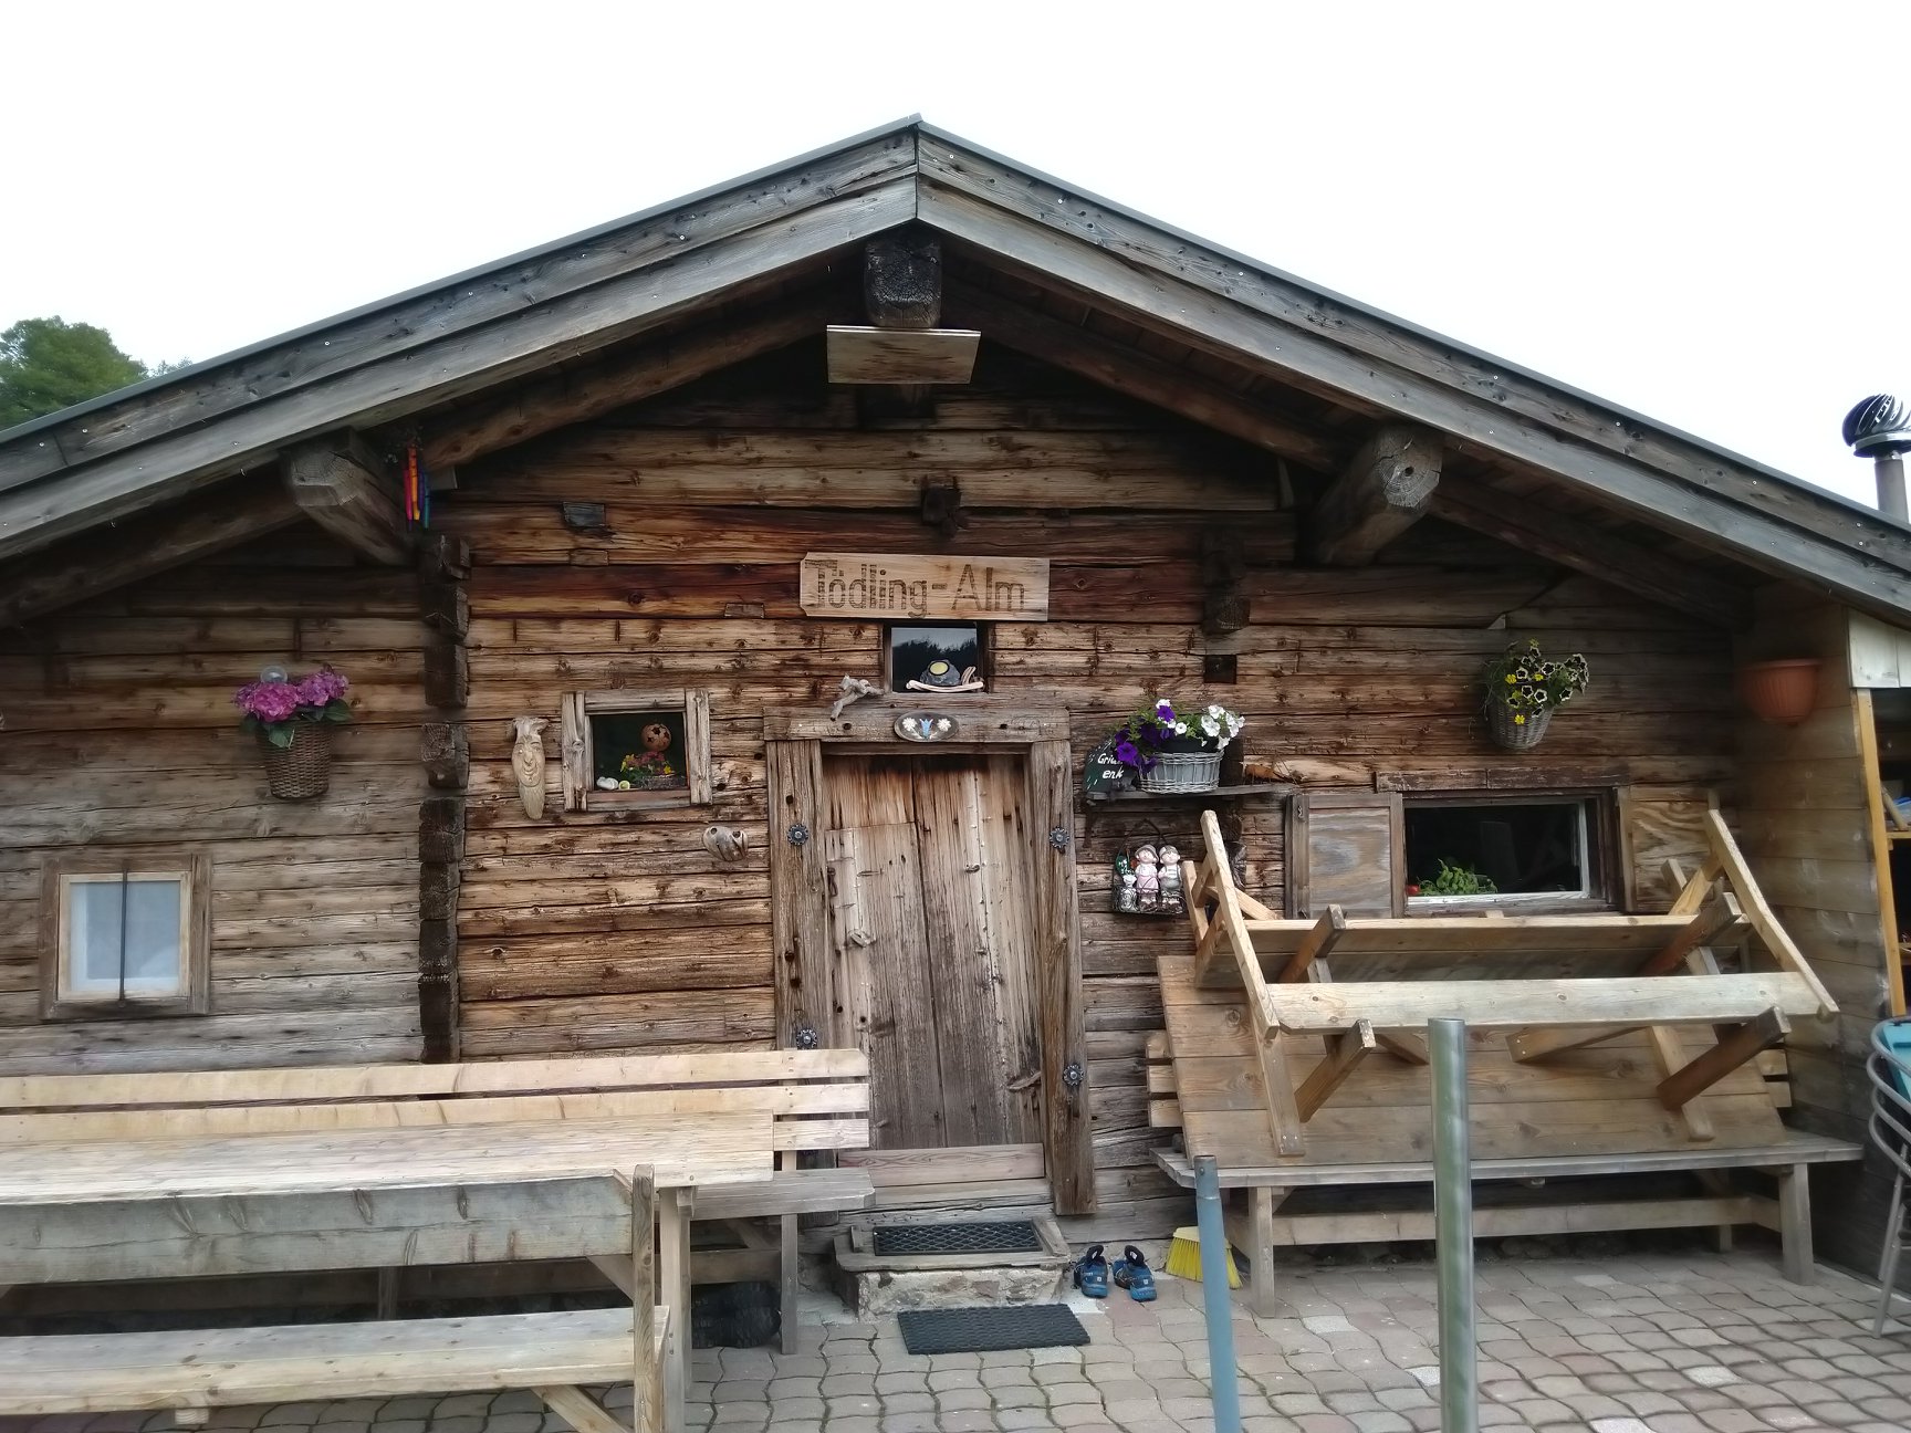
[[(1729, 650), (1710, 629), (1514, 548), (1422, 524), (1366, 569), (1294, 566), (1292, 481), (1225, 443), (984, 346), (977, 382), (929, 418), (871, 418), (799, 346), (461, 472), (440, 522), (474, 550), (472, 797), (459, 908), (466, 1057), (766, 1045), (776, 1039), (762, 715), (827, 709), (843, 674), (879, 680), (881, 627), (806, 619), (808, 550), (1053, 560), (1051, 619), (1001, 625), (994, 690), (1064, 703), (1074, 759), (1150, 688), (1217, 699), (1246, 749), (1370, 768), (1406, 789), (1636, 785), (1686, 795), (1731, 774)], [(921, 481), (961, 487), (954, 539)], [(562, 503), (604, 506), (566, 527)], [(1240, 541), (1252, 625), (1200, 627), (1215, 537)], [(1546, 745), (1485, 739), (1477, 669), (1514, 634), (1592, 659), (1592, 692)], [(1202, 686), (1210, 653), (1236, 682)], [(566, 690), (707, 688), (715, 806), (566, 816)], [(508, 766), (510, 718), (552, 718), (547, 816)], [(1183, 848), (1196, 806), (1149, 812)], [(1282, 812), (1238, 808), (1248, 888), (1278, 904)], [(749, 856), (705, 854), (707, 822)], [(1160, 1192), (1149, 1169), (1143, 1039), (1154, 955), (1177, 923), (1106, 911), (1108, 860), (1149, 831), (1078, 801), (1099, 1188)]]

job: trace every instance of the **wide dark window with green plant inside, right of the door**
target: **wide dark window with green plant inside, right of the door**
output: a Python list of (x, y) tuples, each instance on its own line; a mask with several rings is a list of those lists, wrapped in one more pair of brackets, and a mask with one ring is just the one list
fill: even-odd
[(1600, 829), (1592, 799), (1410, 802), (1408, 906), (1603, 902)]

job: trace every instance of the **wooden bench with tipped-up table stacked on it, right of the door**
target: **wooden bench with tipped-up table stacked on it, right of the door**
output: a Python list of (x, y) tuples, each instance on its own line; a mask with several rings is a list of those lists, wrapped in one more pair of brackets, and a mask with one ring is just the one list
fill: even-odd
[[(1724, 822), (1668, 915), (1288, 921), (1236, 890), (1219, 823), (1187, 862), (1194, 950), (1158, 961), (1168, 1030), (1149, 1047), (1150, 1123), (1181, 1129), (1162, 1167), (1213, 1156), (1248, 1190), (1235, 1232), (1271, 1299), (1273, 1250), (1431, 1236), (1431, 1213), (1282, 1217), (1299, 1188), (1431, 1181), (1426, 1022), (1470, 1026), (1475, 1179), (1691, 1171), (1703, 1198), (1578, 1196), (1479, 1208), (1479, 1232), (1760, 1223), (1810, 1274), (1804, 1167), (1861, 1150), (1787, 1131), (1760, 1059), (1791, 1020), (1835, 1011), (1771, 917)], [(1756, 936), (1777, 969), (1728, 969)], [(1722, 1171), (1768, 1169), (1777, 1198)], [(1571, 1196), (1569, 1196), (1571, 1198)]]

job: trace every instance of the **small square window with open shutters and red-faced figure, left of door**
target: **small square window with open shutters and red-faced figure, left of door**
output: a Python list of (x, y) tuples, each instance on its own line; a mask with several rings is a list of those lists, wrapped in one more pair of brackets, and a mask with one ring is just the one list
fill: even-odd
[(707, 692), (564, 697), (564, 810), (707, 806)]

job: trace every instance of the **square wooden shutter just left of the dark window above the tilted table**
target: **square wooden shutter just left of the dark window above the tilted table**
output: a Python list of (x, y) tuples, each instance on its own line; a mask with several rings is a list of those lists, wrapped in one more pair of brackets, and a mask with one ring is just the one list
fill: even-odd
[(1288, 915), (1405, 915), (1405, 846), (1399, 791), (1301, 791), (1288, 802)]

